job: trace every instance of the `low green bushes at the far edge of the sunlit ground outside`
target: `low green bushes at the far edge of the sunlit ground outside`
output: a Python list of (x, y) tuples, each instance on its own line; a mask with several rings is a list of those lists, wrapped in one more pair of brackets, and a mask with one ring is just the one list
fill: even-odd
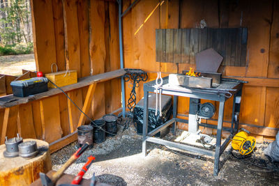
[(18, 45), (5, 45), (3, 47), (0, 46), (0, 56), (6, 55), (18, 55), (18, 54), (30, 54), (33, 52), (33, 43), (29, 42), (26, 44), (18, 44)]

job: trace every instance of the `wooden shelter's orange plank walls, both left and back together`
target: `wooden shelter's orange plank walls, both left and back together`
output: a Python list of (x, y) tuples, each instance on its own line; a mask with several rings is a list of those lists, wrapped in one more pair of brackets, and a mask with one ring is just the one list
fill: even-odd
[[(123, 0), (122, 13), (132, 3)], [(51, 72), (52, 63), (56, 63), (59, 70), (77, 70), (78, 78), (86, 77), (87, 80), (83, 79), (86, 84), (78, 82), (79, 85), (65, 91), (91, 118), (121, 111), (119, 77), (124, 72), (119, 70), (118, 2), (31, 0), (31, 14), (37, 70)], [(148, 72), (148, 81), (156, 79), (158, 71), (167, 76), (190, 67), (195, 69), (195, 63), (182, 60), (156, 61), (156, 29), (199, 28), (202, 20), (207, 28), (247, 28), (247, 53), (243, 65), (225, 63), (219, 71), (223, 77), (248, 81), (241, 99), (241, 127), (250, 130), (259, 141), (275, 138), (279, 128), (279, 1), (140, 0), (121, 20), (124, 68)], [(176, 58), (182, 59), (182, 53), (176, 54)], [(193, 59), (186, 57), (195, 61), (194, 56)], [(238, 62), (234, 58), (234, 64)], [(104, 72), (110, 73), (100, 75)], [(33, 74), (24, 75), (31, 77)], [(89, 77), (92, 75), (99, 76)], [(2, 95), (11, 93), (9, 84), (13, 79), (1, 77)], [(130, 82), (125, 84), (126, 102), (130, 93), (128, 84)], [(142, 82), (136, 91), (137, 100), (140, 100)], [(89, 123), (89, 120), (80, 117), (80, 111), (63, 93), (54, 92), (2, 107), (1, 144), (6, 136), (14, 137), (17, 132), (23, 138), (44, 139), (50, 143), (52, 152), (74, 141), (77, 125)], [(179, 98), (179, 117), (188, 117), (188, 102), (188, 98)], [(226, 104), (224, 121), (229, 125), (232, 110), (226, 106), (232, 104), (232, 99)], [(218, 108), (218, 104), (215, 106)], [(207, 122), (216, 124), (217, 116)], [(187, 129), (188, 126), (180, 123), (179, 127)], [(216, 131), (206, 129), (206, 133)]]

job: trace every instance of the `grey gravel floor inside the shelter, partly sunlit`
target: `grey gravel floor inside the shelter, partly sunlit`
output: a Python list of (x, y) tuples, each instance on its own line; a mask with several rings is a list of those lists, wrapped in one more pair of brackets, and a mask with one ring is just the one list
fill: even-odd
[[(76, 175), (86, 157), (93, 155), (96, 162), (84, 178), (96, 173), (96, 180), (111, 185), (278, 185), (279, 166), (271, 164), (262, 150), (267, 143), (257, 144), (257, 150), (245, 160), (237, 160), (229, 153), (230, 146), (220, 159), (220, 173), (213, 176), (213, 159), (185, 151), (170, 150), (165, 146), (148, 144), (149, 154), (143, 157), (142, 137), (135, 127), (130, 126), (116, 137), (109, 137), (103, 144), (94, 147), (70, 166), (66, 173)], [(177, 132), (176, 137), (181, 134)], [(174, 140), (172, 134), (165, 139)], [(77, 150), (76, 142), (52, 154), (53, 169), (57, 170)], [(234, 152), (236, 153), (236, 152)], [(179, 154), (179, 155), (178, 155)], [(243, 162), (246, 161), (246, 162)], [(261, 166), (276, 167), (277, 170), (261, 169), (247, 162)]]

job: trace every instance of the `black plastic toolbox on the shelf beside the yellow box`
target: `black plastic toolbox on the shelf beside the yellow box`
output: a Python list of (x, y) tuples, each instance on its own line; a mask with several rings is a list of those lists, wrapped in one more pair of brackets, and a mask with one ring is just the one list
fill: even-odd
[(33, 77), (10, 82), (10, 86), (13, 88), (13, 95), (22, 98), (47, 91), (47, 82), (45, 77)]

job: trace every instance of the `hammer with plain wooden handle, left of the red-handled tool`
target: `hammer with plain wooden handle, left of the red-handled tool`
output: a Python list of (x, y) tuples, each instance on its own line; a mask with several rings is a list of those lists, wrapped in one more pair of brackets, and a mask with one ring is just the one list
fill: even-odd
[(40, 180), (42, 182), (43, 186), (53, 186), (56, 183), (56, 180), (58, 180), (64, 171), (66, 171), (66, 169), (73, 164), (73, 162), (75, 162), (77, 160), (77, 158), (80, 157), (80, 155), (82, 155), (82, 153), (84, 153), (84, 151), (89, 147), (89, 144), (86, 143), (84, 144), (81, 148), (79, 148), (71, 157), (70, 159), (63, 164), (63, 166), (61, 166), (61, 168), (56, 171), (56, 173), (52, 174), (52, 176), (48, 177), (45, 173), (40, 173)]

